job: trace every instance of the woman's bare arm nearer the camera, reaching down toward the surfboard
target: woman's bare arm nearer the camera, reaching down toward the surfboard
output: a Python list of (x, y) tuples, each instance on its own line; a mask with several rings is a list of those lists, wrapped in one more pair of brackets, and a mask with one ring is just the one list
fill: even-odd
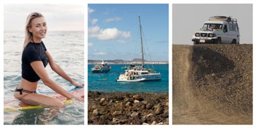
[(44, 85), (48, 86), (58, 94), (61, 94), (67, 98), (75, 98), (76, 100), (84, 100), (79, 96), (75, 96), (71, 94), (70, 92), (67, 92), (61, 86), (59, 86), (56, 82), (54, 82), (52, 79), (50, 79), (48, 73), (44, 69), (44, 65), (42, 64), (42, 61), (33, 61), (30, 63), (36, 74), (42, 79), (42, 82)]

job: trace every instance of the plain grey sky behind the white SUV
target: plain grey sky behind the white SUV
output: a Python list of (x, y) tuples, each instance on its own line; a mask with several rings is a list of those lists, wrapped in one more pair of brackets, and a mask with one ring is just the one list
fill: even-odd
[(194, 32), (211, 16), (224, 15), (237, 19), (240, 44), (253, 44), (252, 4), (173, 4), (172, 44), (193, 44)]

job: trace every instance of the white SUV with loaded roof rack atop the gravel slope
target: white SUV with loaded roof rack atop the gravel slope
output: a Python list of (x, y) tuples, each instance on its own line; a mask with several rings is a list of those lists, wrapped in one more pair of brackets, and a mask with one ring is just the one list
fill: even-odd
[(239, 44), (240, 34), (237, 20), (226, 16), (212, 16), (203, 28), (193, 34), (194, 44)]

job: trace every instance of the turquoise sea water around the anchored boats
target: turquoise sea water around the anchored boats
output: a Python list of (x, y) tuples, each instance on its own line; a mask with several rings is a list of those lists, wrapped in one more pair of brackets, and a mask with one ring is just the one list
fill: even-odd
[[(162, 80), (148, 82), (116, 82), (125, 69), (126, 65), (110, 65), (111, 70), (108, 73), (92, 73), (94, 65), (88, 65), (88, 91), (98, 92), (168, 92), (168, 64), (154, 65), (156, 72), (160, 72)], [(103, 81), (102, 79), (108, 79)]]

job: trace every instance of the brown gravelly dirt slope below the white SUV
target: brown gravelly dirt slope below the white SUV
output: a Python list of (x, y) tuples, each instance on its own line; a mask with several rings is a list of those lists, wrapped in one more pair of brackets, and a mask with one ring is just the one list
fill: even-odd
[(173, 45), (172, 124), (252, 124), (252, 45)]

